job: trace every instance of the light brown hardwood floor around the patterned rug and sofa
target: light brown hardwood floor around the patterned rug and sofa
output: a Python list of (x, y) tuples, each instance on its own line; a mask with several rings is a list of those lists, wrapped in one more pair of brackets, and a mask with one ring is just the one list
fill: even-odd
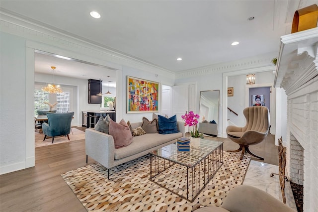
[[(224, 141), (224, 150), (238, 147), (231, 140), (220, 140)], [(265, 163), (270, 160), (278, 163), (273, 135), (259, 145), (251, 147), (251, 151), (264, 156)], [(93, 162), (88, 158), (88, 163)], [(0, 211), (86, 212), (61, 177), (62, 173), (85, 164), (84, 140), (35, 148), (35, 167), (0, 175)]]

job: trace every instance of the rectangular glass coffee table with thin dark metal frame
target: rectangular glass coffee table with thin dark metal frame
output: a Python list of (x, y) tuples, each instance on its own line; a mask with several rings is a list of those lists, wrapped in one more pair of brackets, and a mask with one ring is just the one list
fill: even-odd
[(150, 180), (192, 203), (223, 165), (223, 142), (201, 139), (188, 152), (172, 143), (149, 154)]

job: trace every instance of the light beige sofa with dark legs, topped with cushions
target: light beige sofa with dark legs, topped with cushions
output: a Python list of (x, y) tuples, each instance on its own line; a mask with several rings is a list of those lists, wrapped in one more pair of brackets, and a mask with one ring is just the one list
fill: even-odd
[[(131, 127), (137, 128), (142, 123), (131, 123)], [(134, 136), (131, 144), (118, 149), (115, 148), (113, 136), (96, 131), (93, 128), (87, 128), (85, 130), (86, 162), (87, 156), (91, 157), (108, 169), (109, 177), (110, 168), (147, 155), (150, 151), (176, 142), (178, 138), (184, 137), (184, 123), (177, 121), (177, 127), (179, 130), (178, 133), (147, 133)]]

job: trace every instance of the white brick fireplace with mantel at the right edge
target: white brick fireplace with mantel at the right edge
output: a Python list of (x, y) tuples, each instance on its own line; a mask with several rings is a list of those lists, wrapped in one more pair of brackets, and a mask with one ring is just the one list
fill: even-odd
[(318, 27), (281, 37), (274, 86), (287, 95), (288, 175), (318, 211)]

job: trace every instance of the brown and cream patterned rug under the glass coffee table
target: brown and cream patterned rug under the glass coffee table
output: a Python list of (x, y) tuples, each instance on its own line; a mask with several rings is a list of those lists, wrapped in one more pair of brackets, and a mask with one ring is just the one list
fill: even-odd
[[(89, 164), (61, 174), (87, 211), (191, 212), (203, 206), (220, 206), (227, 192), (243, 183), (250, 156), (224, 151), (224, 164), (193, 203), (172, 194), (149, 180), (150, 159), (143, 156), (107, 169)], [(179, 166), (179, 165), (178, 165)], [(176, 168), (171, 167), (171, 172)], [(184, 187), (178, 180), (166, 179), (172, 187)]]

